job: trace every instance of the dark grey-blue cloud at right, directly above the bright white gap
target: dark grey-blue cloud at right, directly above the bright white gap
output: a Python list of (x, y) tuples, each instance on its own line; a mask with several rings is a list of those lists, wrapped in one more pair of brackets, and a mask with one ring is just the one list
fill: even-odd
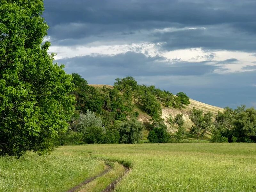
[(156, 34), (154, 42), (166, 42), (163, 50), (202, 47), (213, 50), (256, 50), (256, 33), (247, 34), (233, 31), (229, 25), (206, 26)]

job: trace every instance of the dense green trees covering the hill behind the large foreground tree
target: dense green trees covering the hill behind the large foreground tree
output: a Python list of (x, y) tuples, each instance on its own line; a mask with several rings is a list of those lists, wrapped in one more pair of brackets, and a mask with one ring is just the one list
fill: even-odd
[[(79, 74), (73, 73), (72, 77), (76, 110), (68, 131), (55, 140), (58, 145), (142, 142), (145, 126), (136, 119), (139, 112), (133, 110), (134, 104), (140, 104), (152, 117), (149, 129), (154, 127), (156, 131), (160, 125), (167, 135), (166, 125), (159, 123), (163, 121), (161, 104), (184, 108), (189, 103), (183, 92), (173, 95), (155, 86), (139, 85), (131, 76), (117, 78), (113, 88), (104, 85), (98, 89)], [(162, 142), (168, 142), (168, 138)]]

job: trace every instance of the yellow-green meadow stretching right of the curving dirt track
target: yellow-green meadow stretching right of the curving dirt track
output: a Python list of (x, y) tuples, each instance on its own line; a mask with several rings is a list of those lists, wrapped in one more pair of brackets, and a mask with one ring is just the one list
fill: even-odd
[[(69, 150), (73, 147), (64, 147)], [(132, 170), (116, 186), (129, 191), (256, 191), (256, 145), (178, 143), (86, 145), (92, 156), (130, 161)]]

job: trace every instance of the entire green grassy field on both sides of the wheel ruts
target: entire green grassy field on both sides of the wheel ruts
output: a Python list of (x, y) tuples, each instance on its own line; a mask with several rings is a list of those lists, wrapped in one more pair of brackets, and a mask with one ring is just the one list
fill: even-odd
[[(106, 159), (132, 164), (116, 192), (256, 191), (256, 144), (250, 143), (94, 144), (63, 146), (46, 158), (0, 158), (0, 191), (66, 191), (101, 172)], [(101, 191), (123, 171), (115, 167), (80, 191)]]

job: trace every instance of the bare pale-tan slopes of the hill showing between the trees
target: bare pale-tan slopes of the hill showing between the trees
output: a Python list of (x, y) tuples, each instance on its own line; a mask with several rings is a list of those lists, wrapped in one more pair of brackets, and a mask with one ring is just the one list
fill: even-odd
[[(101, 87), (104, 86), (104, 84), (90, 84), (90, 86), (93, 86), (95, 88), (101, 88)], [(106, 86), (109, 87), (109, 88), (113, 88), (112, 85), (106, 85)], [(190, 99), (189, 101), (190, 101), (190, 104), (188, 106), (185, 106), (186, 108), (184, 108), (184, 109), (172, 108), (172, 107), (167, 108), (167, 107), (164, 107), (162, 105), (162, 113), (163, 113), (162, 118), (165, 120), (165, 123), (168, 125), (168, 128), (169, 128), (170, 132), (174, 133), (176, 131), (175, 127), (170, 127), (170, 125), (167, 123), (167, 118), (170, 116), (170, 114), (172, 115), (172, 117), (174, 117), (177, 114), (182, 113), (183, 118), (185, 120), (185, 125), (184, 126), (188, 130), (192, 126), (192, 122), (189, 119), (189, 114), (190, 114), (190, 111), (192, 110), (193, 107), (195, 107), (196, 109), (203, 110), (204, 113), (207, 112), (207, 111), (210, 111), (213, 114), (217, 114), (218, 111), (223, 110), (223, 108), (212, 106), (212, 105), (209, 105), (209, 104), (205, 104), (205, 103), (193, 100), (193, 99)], [(147, 125), (149, 123), (149, 119), (151, 119), (151, 117), (143, 111), (143, 108), (142, 108), (141, 104), (134, 103), (134, 106), (135, 106), (134, 111), (138, 111), (139, 114), (140, 114), (139, 117), (138, 117), (138, 120), (140, 120), (145, 125)], [(147, 133), (148, 133), (148, 131), (145, 130), (145, 132), (144, 132), (145, 137), (147, 136)], [(188, 136), (188, 137), (191, 137), (191, 135)], [(209, 135), (206, 134), (205, 137), (207, 138), (207, 137), (209, 137)]]

